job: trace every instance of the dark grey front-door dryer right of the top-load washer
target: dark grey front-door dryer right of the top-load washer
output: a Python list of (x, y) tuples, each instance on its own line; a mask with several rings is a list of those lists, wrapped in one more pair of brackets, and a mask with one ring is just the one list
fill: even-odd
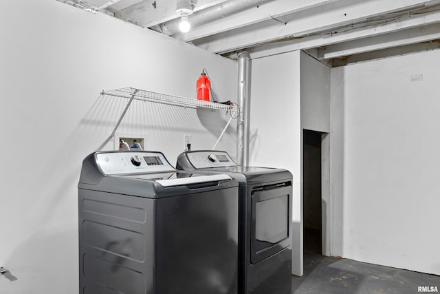
[(225, 151), (186, 151), (176, 168), (239, 182), (239, 293), (289, 294), (292, 287), (292, 174), (244, 167)]

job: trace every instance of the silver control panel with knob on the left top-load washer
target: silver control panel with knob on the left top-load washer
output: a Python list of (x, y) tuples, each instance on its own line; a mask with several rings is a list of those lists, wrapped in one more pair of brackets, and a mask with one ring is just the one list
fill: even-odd
[(103, 152), (96, 154), (96, 161), (106, 175), (175, 171), (161, 152)]

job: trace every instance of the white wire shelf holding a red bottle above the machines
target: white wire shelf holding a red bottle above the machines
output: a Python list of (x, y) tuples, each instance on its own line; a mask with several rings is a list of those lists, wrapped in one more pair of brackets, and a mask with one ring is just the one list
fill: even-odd
[(206, 108), (215, 110), (225, 110), (226, 112), (238, 112), (238, 105), (231, 103), (222, 104), (210, 101), (200, 101), (193, 98), (187, 98), (183, 96), (175, 96), (169, 94), (162, 94), (156, 92), (149, 92), (146, 90), (135, 89), (133, 87), (126, 87), (117, 90), (103, 90), (102, 95), (118, 96), (124, 98), (132, 98), (141, 101), (151, 101), (154, 103), (162, 103), (166, 105), (174, 105), (179, 107), (190, 107), (190, 108)]

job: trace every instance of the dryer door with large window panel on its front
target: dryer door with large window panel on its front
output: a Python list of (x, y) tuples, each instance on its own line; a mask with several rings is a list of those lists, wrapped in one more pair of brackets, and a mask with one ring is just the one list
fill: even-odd
[(290, 182), (252, 190), (252, 264), (290, 245), (291, 205), (292, 185)]

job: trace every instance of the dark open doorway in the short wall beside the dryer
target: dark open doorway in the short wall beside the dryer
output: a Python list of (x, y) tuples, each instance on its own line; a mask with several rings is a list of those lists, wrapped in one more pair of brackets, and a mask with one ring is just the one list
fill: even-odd
[(322, 254), (321, 142), (322, 133), (304, 130), (304, 251), (316, 254)]

